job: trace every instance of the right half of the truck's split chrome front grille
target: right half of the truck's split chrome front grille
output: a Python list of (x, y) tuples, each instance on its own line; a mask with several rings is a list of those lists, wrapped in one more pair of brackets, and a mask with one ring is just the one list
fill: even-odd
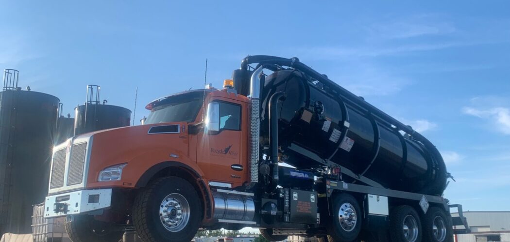
[(67, 186), (81, 184), (83, 182), (83, 169), (85, 165), (85, 153), (87, 142), (72, 145), (71, 158), (69, 159), (69, 174)]

